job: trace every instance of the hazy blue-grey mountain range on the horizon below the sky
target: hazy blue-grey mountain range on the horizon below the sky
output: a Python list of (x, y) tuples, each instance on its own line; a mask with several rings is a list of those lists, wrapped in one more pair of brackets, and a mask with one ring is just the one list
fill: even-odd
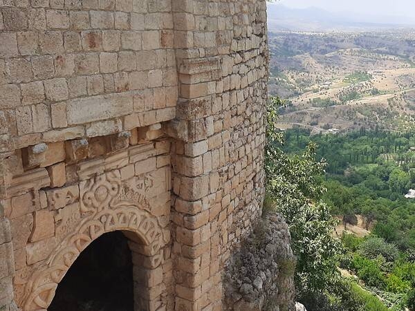
[(268, 29), (294, 31), (376, 31), (388, 28), (415, 27), (408, 17), (381, 17), (333, 13), (321, 8), (293, 9), (268, 3)]

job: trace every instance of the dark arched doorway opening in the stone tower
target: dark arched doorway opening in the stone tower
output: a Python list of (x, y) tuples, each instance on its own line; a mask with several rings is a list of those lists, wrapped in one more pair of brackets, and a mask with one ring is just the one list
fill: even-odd
[(133, 265), (122, 232), (86, 247), (57, 286), (48, 311), (133, 311)]

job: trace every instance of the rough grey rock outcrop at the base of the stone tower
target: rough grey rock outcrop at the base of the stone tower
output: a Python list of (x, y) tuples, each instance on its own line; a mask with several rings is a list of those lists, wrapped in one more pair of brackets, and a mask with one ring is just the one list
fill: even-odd
[(225, 268), (225, 310), (295, 310), (295, 256), (284, 218), (267, 214)]

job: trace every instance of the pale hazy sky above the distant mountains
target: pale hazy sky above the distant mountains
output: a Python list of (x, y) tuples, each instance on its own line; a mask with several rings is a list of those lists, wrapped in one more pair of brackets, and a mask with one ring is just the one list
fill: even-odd
[(331, 12), (415, 18), (415, 0), (279, 0), (291, 8), (315, 6)]

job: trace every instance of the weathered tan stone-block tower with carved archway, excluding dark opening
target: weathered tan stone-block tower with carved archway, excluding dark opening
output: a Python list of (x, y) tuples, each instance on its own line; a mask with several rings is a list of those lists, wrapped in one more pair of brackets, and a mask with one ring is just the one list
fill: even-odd
[(0, 0), (0, 310), (122, 231), (135, 310), (221, 310), (261, 214), (264, 0)]

